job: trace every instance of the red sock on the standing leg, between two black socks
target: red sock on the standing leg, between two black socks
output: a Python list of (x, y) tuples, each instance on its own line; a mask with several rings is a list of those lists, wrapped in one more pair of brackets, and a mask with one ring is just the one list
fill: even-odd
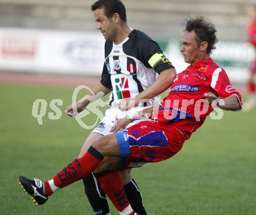
[(130, 203), (127, 199), (119, 173), (113, 171), (103, 175), (102, 173), (100, 174), (101, 175), (96, 173), (95, 176), (101, 184), (102, 190), (104, 190), (105, 194), (111, 200), (113, 205), (115, 205), (116, 209), (119, 212), (122, 212), (130, 205)]

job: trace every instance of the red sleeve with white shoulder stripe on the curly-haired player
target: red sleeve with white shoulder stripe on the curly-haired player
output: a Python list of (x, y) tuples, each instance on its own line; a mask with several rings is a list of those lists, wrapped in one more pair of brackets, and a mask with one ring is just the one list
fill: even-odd
[(231, 85), (229, 77), (223, 68), (216, 68), (209, 80), (211, 80), (211, 88), (218, 93), (220, 98), (225, 99), (234, 94), (240, 105), (242, 105), (240, 93)]

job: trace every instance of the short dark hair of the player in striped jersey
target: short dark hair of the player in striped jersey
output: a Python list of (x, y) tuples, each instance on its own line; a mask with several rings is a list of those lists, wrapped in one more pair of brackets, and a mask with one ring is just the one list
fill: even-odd
[(91, 5), (91, 10), (104, 8), (106, 17), (112, 17), (113, 14), (118, 13), (120, 19), (126, 22), (125, 5), (120, 0), (98, 0)]

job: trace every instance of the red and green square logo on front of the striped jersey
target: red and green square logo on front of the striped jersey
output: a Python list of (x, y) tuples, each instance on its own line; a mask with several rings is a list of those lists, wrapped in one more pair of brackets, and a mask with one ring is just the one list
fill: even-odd
[(126, 99), (131, 97), (128, 78), (116, 78), (115, 88), (118, 99)]

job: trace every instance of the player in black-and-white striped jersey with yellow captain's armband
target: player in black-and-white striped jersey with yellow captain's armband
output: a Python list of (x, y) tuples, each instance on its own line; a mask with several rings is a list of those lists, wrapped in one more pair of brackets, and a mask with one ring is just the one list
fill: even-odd
[[(110, 108), (88, 136), (81, 148), (79, 158), (84, 155), (94, 140), (110, 134), (112, 126), (118, 119), (126, 116), (131, 98), (135, 98), (133, 106), (138, 110), (158, 103), (157, 95), (169, 88), (176, 75), (173, 65), (166, 59), (158, 44), (143, 32), (128, 26), (126, 9), (121, 1), (99, 0), (92, 5), (91, 9), (97, 29), (106, 39), (101, 81), (93, 89), (93, 94), (97, 97), (96, 95), (103, 96), (111, 92)], [(88, 94), (77, 103), (78, 112), (83, 111), (91, 100), (95, 100), (95, 97), (91, 96), (93, 95)], [(147, 99), (147, 102), (138, 104), (138, 101), (143, 99)], [(121, 101), (125, 101), (122, 108)], [(138, 105), (140, 107), (137, 107)], [(66, 112), (69, 115), (74, 113), (72, 105)], [(129, 205), (126, 200), (122, 204), (118, 202), (120, 195), (126, 194), (131, 207), (136, 212), (147, 214), (140, 190), (130, 176), (130, 169), (119, 173), (94, 173), (83, 179), (85, 191), (94, 212), (102, 215), (109, 214), (106, 193), (119, 211)], [(125, 192), (122, 190), (123, 184), (125, 184)], [(117, 193), (119, 195), (116, 195)]]

